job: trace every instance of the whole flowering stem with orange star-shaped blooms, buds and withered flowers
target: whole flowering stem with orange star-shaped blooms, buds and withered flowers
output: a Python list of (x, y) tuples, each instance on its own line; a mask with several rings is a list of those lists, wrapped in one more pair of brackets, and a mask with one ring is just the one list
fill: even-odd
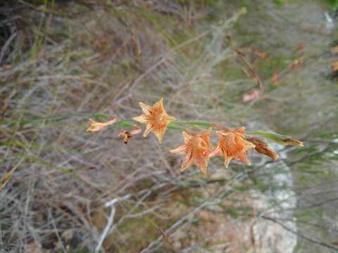
[[(179, 121), (175, 117), (168, 115), (163, 107), (163, 98), (154, 105), (139, 103), (143, 114), (133, 117), (134, 122), (146, 124), (143, 136), (153, 133), (159, 143), (162, 143), (163, 136), (167, 129), (176, 129), (182, 131), (183, 144), (170, 150), (171, 153), (186, 155), (180, 171), (184, 171), (192, 164), (196, 165), (204, 174), (206, 174), (208, 162), (211, 157), (224, 156), (225, 167), (227, 168), (232, 159), (239, 160), (244, 164), (249, 164), (246, 152), (250, 149), (277, 160), (279, 155), (275, 153), (263, 139), (268, 139), (280, 145), (303, 146), (301, 141), (294, 140), (290, 136), (284, 136), (268, 131), (246, 131), (244, 126), (231, 130), (227, 126), (213, 124), (208, 122), (189, 122)], [(141, 127), (130, 120), (116, 121), (115, 117), (108, 122), (96, 122), (89, 119), (90, 126), (87, 131), (100, 131), (111, 124), (128, 126), (134, 128), (132, 131), (121, 131), (118, 136), (124, 138), (127, 144), (132, 136), (141, 133)], [(201, 129), (194, 131), (192, 128)], [(218, 144), (211, 143), (211, 135), (215, 131), (218, 136)], [(258, 138), (256, 136), (260, 136)]]

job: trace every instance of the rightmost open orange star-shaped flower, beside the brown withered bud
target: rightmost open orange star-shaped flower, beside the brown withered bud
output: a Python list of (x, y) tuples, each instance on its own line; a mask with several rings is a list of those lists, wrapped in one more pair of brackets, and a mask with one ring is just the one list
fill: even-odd
[(224, 155), (225, 167), (227, 168), (232, 158), (249, 164), (248, 157), (246, 157), (246, 150), (255, 148), (253, 143), (244, 139), (245, 127), (239, 127), (234, 131), (218, 131), (217, 135), (220, 138), (218, 146), (210, 154), (211, 157)]

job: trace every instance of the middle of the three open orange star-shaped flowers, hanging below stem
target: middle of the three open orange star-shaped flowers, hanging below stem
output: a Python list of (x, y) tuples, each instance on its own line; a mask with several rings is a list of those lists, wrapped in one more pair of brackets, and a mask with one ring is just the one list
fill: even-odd
[(184, 144), (170, 150), (171, 153), (187, 155), (182, 162), (181, 172), (192, 164), (195, 164), (204, 174), (206, 174), (209, 157), (213, 150), (210, 143), (211, 128), (204, 131), (202, 134), (188, 134), (186, 131), (183, 131), (182, 135)]

